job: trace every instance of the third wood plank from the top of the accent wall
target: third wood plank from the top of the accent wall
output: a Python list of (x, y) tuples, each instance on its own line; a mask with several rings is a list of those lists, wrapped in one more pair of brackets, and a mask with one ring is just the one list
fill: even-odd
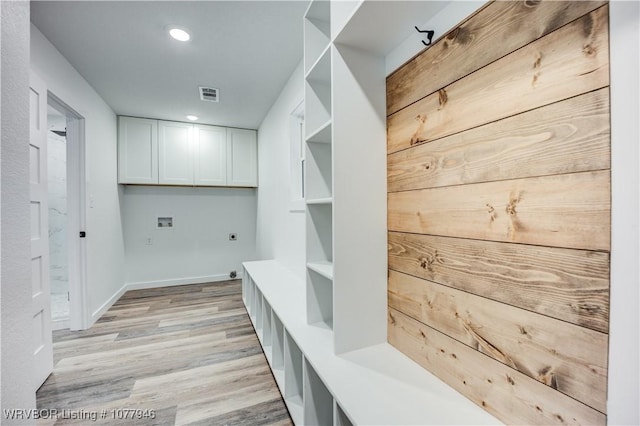
[(389, 192), (610, 168), (609, 90), (390, 154)]

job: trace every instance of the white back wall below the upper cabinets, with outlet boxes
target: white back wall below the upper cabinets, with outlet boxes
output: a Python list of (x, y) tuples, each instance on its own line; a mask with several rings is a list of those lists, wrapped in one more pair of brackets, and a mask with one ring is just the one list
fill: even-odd
[[(255, 189), (129, 185), (122, 207), (129, 288), (226, 280), (255, 260)], [(158, 216), (174, 228), (158, 229)]]

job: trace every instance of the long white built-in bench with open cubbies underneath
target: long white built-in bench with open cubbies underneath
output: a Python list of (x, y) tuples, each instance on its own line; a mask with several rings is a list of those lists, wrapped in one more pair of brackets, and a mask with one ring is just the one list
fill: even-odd
[(302, 279), (273, 260), (243, 266), (247, 311), (296, 424), (501, 424), (389, 344), (336, 356), (331, 330), (307, 324)]

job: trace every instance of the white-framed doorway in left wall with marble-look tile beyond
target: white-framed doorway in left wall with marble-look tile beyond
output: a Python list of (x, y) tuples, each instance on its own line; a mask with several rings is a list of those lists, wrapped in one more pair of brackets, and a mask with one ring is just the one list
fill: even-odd
[(86, 303), (84, 118), (47, 94), (47, 166), (52, 329), (83, 330)]

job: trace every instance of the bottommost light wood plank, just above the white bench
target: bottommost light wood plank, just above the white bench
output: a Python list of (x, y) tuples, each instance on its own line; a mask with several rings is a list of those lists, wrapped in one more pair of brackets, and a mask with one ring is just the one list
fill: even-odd
[(507, 424), (604, 425), (606, 416), (395, 309), (389, 343)]

